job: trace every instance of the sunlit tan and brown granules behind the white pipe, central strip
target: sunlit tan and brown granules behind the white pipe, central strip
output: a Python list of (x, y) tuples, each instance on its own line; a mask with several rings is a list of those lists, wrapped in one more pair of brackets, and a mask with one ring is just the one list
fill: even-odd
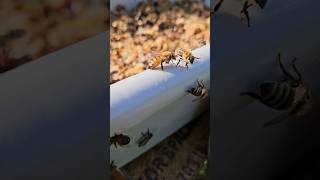
[(194, 49), (210, 41), (210, 9), (202, 0), (144, 1), (111, 12), (110, 83), (144, 71), (150, 52)]

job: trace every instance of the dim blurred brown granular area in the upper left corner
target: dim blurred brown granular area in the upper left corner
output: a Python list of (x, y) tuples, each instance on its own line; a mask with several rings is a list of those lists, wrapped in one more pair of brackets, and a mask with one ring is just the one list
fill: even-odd
[(109, 0), (0, 1), (0, 73), (104, 32)]

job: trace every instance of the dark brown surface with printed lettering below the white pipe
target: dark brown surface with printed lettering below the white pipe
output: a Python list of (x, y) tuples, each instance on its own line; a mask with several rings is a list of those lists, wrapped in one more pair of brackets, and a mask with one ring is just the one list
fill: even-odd
[(210, 113), (122, 168), (132, 179), (195, 179), (208, 155)]

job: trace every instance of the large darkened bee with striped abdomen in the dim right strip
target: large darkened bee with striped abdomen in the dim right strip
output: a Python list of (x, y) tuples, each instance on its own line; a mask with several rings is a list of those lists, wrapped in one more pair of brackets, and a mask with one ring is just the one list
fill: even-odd
[(296, 73), (290, 74), (281, 62), (281, 55), (278, 53), (278, 62), (285, 75), (285, 79), (279, 82), (265, 82), (260, 84), (260, 94), (244, 92), (241, 95), (248, 95), (259, 100), (266, 106), (279, 111), (287, 111), (289, 115), (303, 115), (312, 107), (311, 92), (303, 83), (294, 58), (291, 62)]

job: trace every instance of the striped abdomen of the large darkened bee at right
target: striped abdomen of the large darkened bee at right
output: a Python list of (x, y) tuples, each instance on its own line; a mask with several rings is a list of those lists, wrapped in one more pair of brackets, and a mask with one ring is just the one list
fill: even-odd
[(290, 108), (294, 101), (295, 88), (286, 83), (263, 83), (260, 91), (263, 103), (277, 110)]

